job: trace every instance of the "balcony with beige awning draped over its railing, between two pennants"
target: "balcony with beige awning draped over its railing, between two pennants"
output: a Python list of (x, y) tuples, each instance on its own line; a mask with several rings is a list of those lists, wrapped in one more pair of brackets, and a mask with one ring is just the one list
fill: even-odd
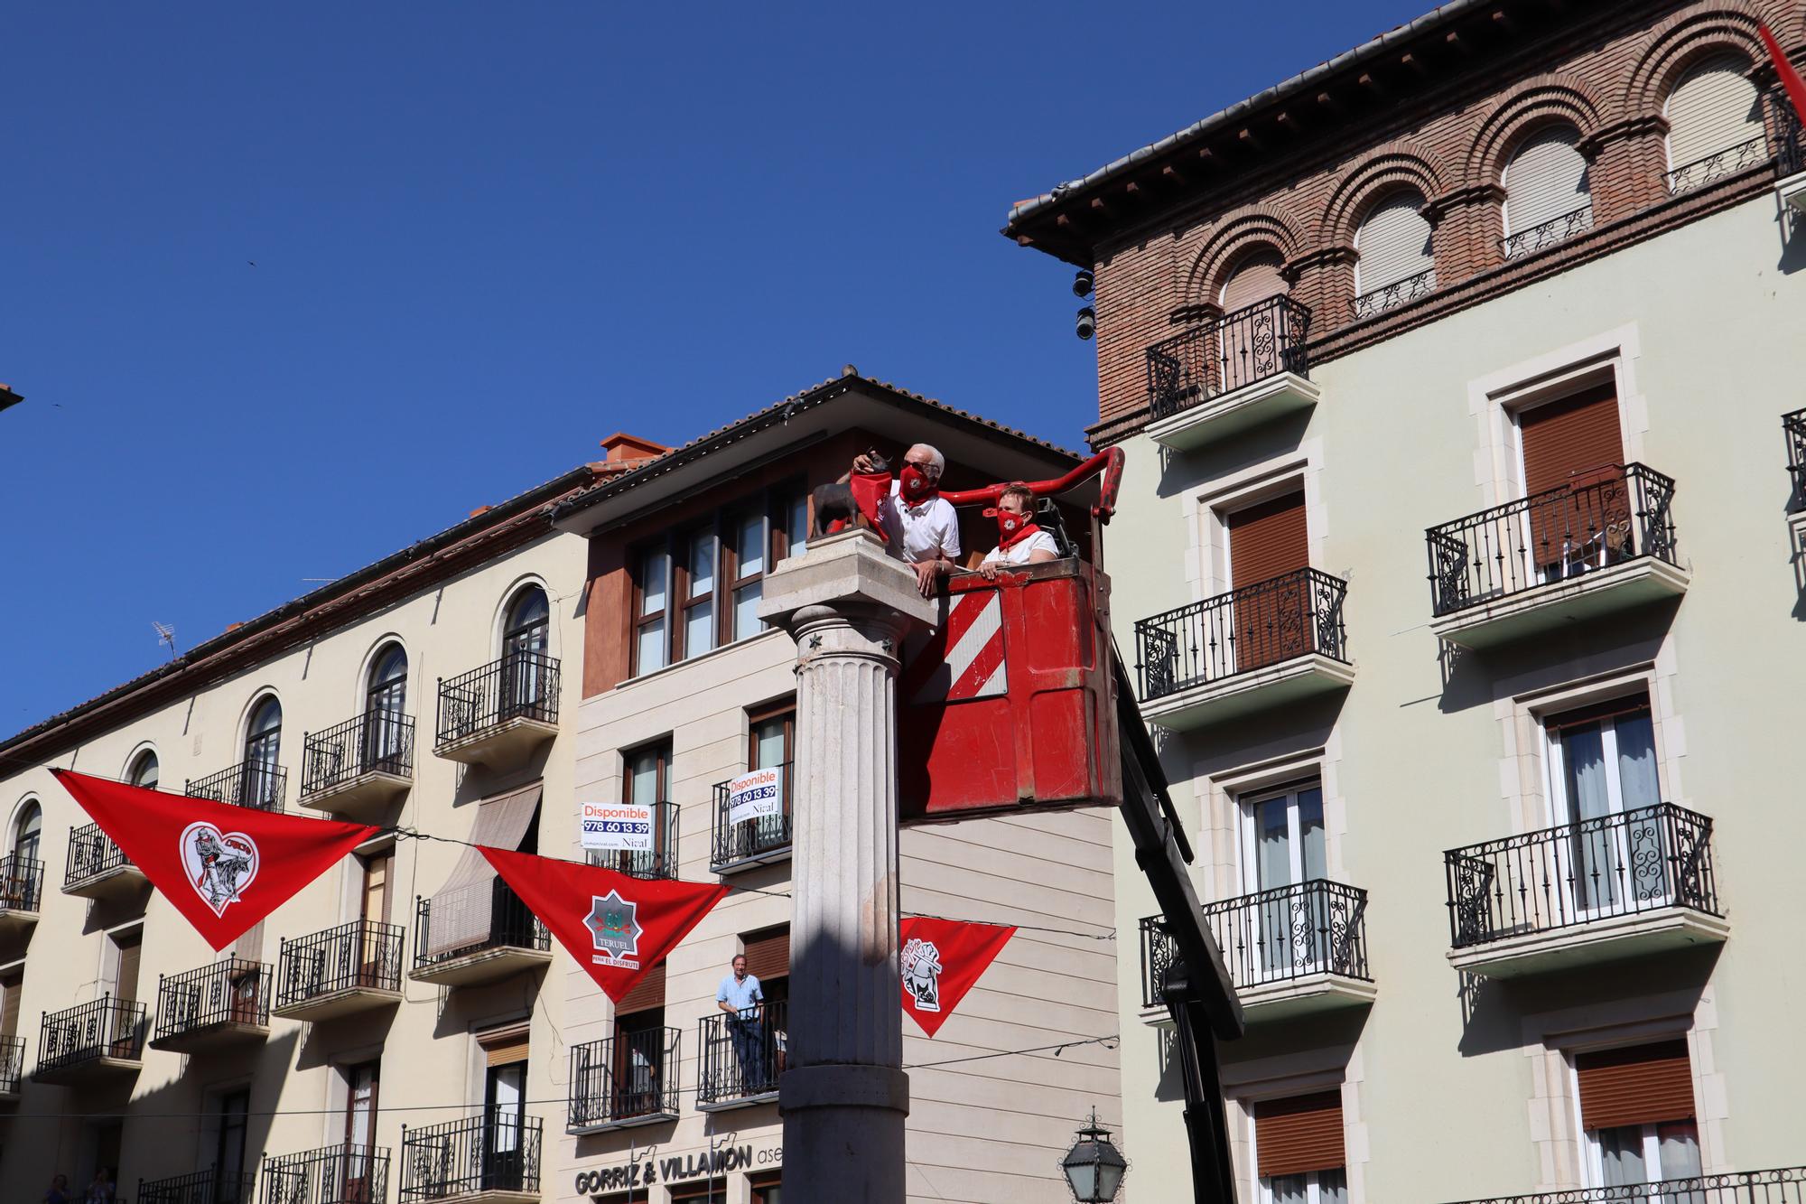
[[(433, 906), (441, 915), (435, 926)], [(414, 982), (468, 987), (553, 960), (553, 938), (502, 879), (421, 898), (414, 918)]]

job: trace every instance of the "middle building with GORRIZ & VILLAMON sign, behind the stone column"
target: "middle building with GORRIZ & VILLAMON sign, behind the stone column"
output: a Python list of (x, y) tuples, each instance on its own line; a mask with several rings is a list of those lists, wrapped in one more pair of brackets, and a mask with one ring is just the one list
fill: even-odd
[[(787, 1034), (807, 1023), (786, 1007), (796, 645), (760, 626), (760, 582), (805, 544), (816, 484), (867, 448), (896, 463), (917, 441), (945, 454), (946, 488), (1046, 479), (1078, 463), (849, 374), (558, 508), (558, 528), (589, 539), (565, 855), (583, 855), (582, 803), (654, 804), (665, 817), (654, 853), (591, 857), (735, 889), (618, 1005), (578, 967), (563, 974), (569, 1112), (549, 1150), (558, 1170), (547, 1199), (780, 1199), (777, 1076)], [(964, 513), (963, 535), (982, 551), (995, 526)], [(735, 823), (728, 783), (762, 768), (778, 770), (784, 810)], [(901, 908), (1024, 926), (936, 1039), (903, 1023), (908, 1199), (1057, 1199), (1078, 1123), (1093, 1106), (1120, 1121), (1114, 1043), (1096, 1041), (1118, 1029), (1109, 814), (907, 828)], [(762, 1012), (717, 1005), (735, 955), (764, 985)], [(1078, 1045), (1058, 1049), (1069, 1041)]]

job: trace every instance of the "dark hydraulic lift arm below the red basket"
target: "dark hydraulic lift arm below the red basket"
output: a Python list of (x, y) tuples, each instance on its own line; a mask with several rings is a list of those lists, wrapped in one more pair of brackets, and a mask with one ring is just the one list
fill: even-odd
[(1185, 1132), (1192, 1153), (1192, 1199), (1197, 1204), (1233, 1204), (1235, 1177), (1230, 1164), (1228, 1121), (1223, 1112), (1223, 1081), (1212, 1038), (1232, 1041), (1243, 1034), (1241, 1000), (1223, 965), (1223, 953), (1205, 927), (1197, 895), (1185, 866), (1192, 861), (1185, 828), (1167, 794), (1154, 741), (1141, 723), (1134, 687), (1123, 660), (1116, 665), (1116, 727), (1123, 763), (1123, 823), (1134, 841), (1134, 859), (1154, 888), (1167, 933), (1178, 958), (1161, 983), (1172, 1014), (1174, 1054), (1185, 1077)]

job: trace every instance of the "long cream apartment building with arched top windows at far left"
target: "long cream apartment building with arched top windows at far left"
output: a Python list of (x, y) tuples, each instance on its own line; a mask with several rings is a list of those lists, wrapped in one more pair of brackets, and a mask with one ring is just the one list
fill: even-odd
[[(545, 929), (386, 835), (215, 955), (51, 767), (535, 850), (574, 768), (576, 468), (0, 745), (0, 1184), (141, 1204), (540, 1199), (563, 1096)], [(565, 671), (565, 665), (571, 671)]]

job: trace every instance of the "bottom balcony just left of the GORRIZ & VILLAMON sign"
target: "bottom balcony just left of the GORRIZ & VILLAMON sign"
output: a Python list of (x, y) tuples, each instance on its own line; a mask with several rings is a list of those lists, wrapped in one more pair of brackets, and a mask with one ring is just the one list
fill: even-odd
[(401, 1204), (538, 1204), (540, 1119), (484, 1112), (401, 1130)]

